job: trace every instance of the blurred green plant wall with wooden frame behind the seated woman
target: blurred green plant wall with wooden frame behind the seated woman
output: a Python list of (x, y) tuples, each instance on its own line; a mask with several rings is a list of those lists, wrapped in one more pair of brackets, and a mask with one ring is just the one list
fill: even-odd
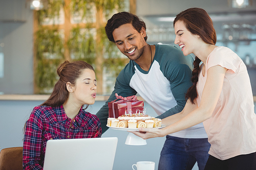
[[(127, 1), (127, 0), (126, 0)], [(71, 0), (70, 5), (65, 5), (65, 0), (48, 0), (48, 9), (36, 12), (38, 19), (38, 31), (35, 34), (35, 85), (36, 93), (51, 93), (58, 76), (57, 66), (63, 60), (83, 60), (93, 65), (100, 80), (103, 67), (109, 71), (108, 75), (117, 76), (127, 59), (116, 45), (108, 40), (105, 35), (103, 20), (107, 20), (113, 11), (121, 11), (124, 0)], [(79, 16), (80, 23), (86, 19), (86, 25), (73, 25), (69, 39), (64, 44), (64, 35), (61, 34), (59, 26), (55, 25), (56, 16), (59, 17), (60, 9), (63, 8), (65, 15), (67, 11), (74, 16)], [(66, 8), (70, 8), (66, 10)], [(95, 10), (96, 11), (93, 11)], [(69, 15), (69, 14), (68, 14)], [(96, 16), (94, 16), (96, 15)], [(45, 18), (52, 20), (52, 26), (44, 26)], [(105, 17), (105, 19), (103, 19)], [(97, 18), (93, 23), (91, 18)], [(91, 20), (90, 20), (91, 19)], [(64, 47), (67, 45), (68, 52)], [(65, 58), (66, 57), (66, 58)], [(102, 77), (101, 77), (102, 78)], [(102, 83), (102, 82), (101, 82)]]

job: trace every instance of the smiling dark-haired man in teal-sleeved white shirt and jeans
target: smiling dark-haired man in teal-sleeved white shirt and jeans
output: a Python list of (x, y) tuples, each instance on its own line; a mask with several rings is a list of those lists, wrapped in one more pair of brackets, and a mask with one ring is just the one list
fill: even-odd
[[(114, 91), (96, 114), (102, 133), (108, 130), (108, 102), (116, 99), (115, 93), (123, 97), (138, 93), (156, 111), (157, 118), (181, 112), (185, 93), (192, 85), (193, 58), (185, 57), (176, 46), (147, 44), (145, 23), (129, 12), (114, 14), (105, 32), (130, 62), (121, 70)], [(203, 124), (167, 135), (158, 169), (191, 169), (196, 161), (203, 169), (209, 148)]]

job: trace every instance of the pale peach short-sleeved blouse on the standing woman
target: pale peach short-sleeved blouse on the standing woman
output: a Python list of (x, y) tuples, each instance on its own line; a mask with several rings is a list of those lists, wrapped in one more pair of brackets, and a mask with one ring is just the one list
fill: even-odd
[[(202, 64), (203, 65), (203, 64)], [(208, 69), (215, 65), (227, 68), (222, 91), (211, 118), (203, 122), (209, 154), (221, 159), (256, 152), (256, 115), (247, 68), (241, 58), (227, 47), (216, 47), (206, 61), (206, 73), (202, 65), (197, 83), (200, 105)]]

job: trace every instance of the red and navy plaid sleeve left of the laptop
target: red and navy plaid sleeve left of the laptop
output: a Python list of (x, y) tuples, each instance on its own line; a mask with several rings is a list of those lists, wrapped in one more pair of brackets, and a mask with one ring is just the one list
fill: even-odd
[(27, 120), (23, 142), (23, 169), (42, 169), (39, 165), (41, 153), (41, 111), (35, 107)]

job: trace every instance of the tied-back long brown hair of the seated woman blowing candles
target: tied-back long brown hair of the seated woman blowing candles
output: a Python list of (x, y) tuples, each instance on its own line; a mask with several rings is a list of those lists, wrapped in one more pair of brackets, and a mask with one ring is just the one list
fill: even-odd
[(67, 60), (60, 64), (57, 68), (59, 80), (54, 85), (50, 98), (41, 104), (41, 106), (56, 107), (65, 103), (69, 97), (69, 91), (66, 84), (70, 82), (72, 85), (75, 85), (76, 80), (81, 76), (82, 71), (86, 68), (94, 70), (90, 64), (84, 61), (69, 62)]

